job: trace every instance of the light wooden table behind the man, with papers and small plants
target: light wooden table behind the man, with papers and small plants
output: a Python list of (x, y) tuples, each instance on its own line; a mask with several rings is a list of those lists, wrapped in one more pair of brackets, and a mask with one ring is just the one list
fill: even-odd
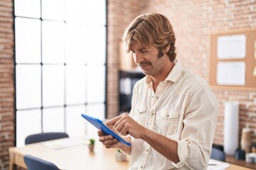
[[(58, 140), (56, 140), (58, 141)], [(117, 162), (114, 159), (114, 152), (117, 149), (106, 149), (100, 142), (96, 142), (95, 151), (89, 152), (86, 144), (73, 145), (61, 149), (52, 149), (43, 146), (42, 143), (26, 145), (25, 147), (11, 147), (9, 170), (13, 169), (13, 165), (26, 168), (23, 161), (25, 154), (31, 154), (35, 157), (53, 162), (59, 169), (68, 170), (84, 170), (84, 169), (99, 169), (102, 167), (106, 170), (121, 170), (128, 169), (129, 157), (126, 162)], [(228, 170), (249, 170), (248, 168), (230, 164)]]

